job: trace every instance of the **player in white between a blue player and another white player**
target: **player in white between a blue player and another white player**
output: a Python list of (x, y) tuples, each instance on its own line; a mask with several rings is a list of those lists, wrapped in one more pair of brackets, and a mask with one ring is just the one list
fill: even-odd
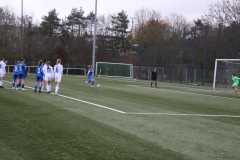
[(51, 62), (46, 63), (46, 67), (43, 67), (44, 81), (46, 84), (47, 93), (51, 93), (51, 79), (53, 78), (53, 68), (50, 66)]

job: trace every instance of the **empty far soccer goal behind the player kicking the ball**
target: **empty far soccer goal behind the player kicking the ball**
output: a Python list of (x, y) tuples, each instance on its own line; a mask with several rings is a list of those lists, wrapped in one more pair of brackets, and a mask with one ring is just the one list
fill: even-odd
[(133, 65), (126, 63), (96, 62), (96, 76), (132, 78)]

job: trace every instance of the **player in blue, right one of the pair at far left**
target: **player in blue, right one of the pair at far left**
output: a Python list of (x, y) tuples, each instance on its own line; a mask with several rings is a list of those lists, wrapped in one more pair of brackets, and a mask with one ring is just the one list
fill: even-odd
[(27, 69), (25, 64), (25, 59), (21, 58), (20, 62), (18, 63), (18, 80), (17, 80), (17, 88), (18, 90), (22, 86), (22, 90), (25, 90), (24, 88), (24, 82), (25, 78), (27, 77)]

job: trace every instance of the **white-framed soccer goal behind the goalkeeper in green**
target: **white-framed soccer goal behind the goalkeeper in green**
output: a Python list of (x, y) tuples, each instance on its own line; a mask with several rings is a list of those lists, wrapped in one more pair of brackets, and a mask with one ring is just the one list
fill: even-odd
[(216, 59), (213, 90), (231, 91), (232, 74), (240, 77), (240, 59)]

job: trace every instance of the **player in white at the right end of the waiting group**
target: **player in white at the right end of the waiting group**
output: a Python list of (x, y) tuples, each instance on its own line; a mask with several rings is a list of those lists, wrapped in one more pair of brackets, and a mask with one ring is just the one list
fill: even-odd
[(63, 76), (63, 66), (61, 65), (61, 60), (58, 59), (56, 65), (54, 66), (54, 79), (56, 82), (55, 95), (58, 95), (58, 90)]

